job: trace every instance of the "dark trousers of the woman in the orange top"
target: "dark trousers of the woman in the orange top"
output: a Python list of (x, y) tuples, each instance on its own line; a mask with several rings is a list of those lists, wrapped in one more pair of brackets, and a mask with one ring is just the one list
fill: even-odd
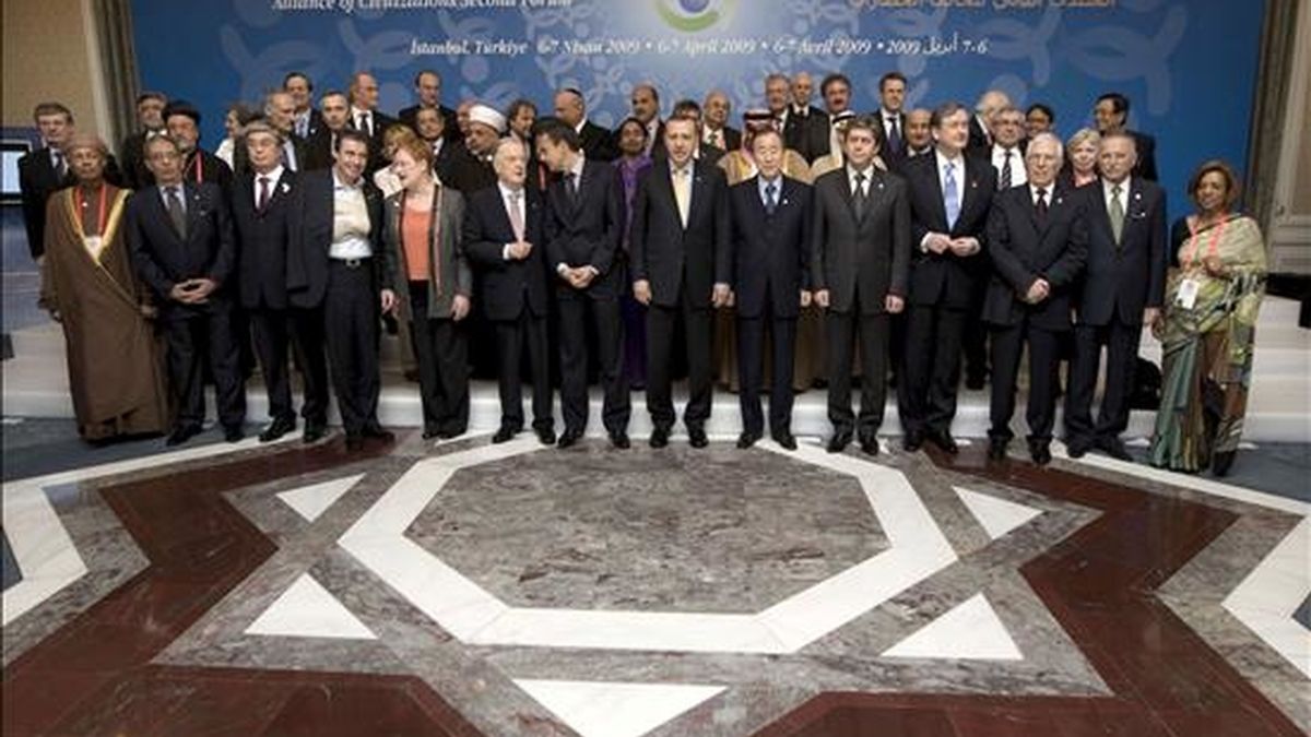
[(410, 282), (409, 292), (423, 430), (463, 434), (469, 426), (469, 349), (464, 325), (450, 317), (427, 316), (427, 282)]

